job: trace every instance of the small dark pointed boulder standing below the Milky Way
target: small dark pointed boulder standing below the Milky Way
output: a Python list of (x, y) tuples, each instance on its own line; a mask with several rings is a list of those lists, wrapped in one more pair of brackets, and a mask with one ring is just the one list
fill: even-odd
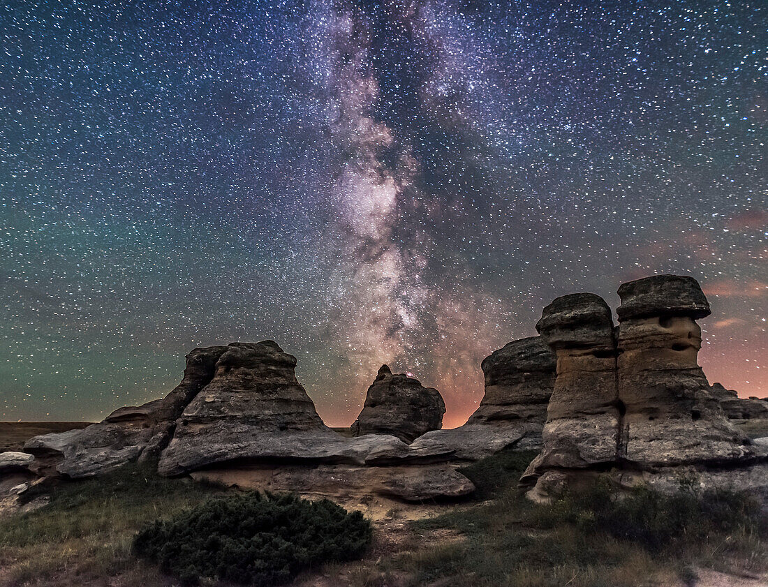
[(351, 430), (355, 436), (390, 434), (412, 442), (425, 432), (439, 430), (443, 414), (445, 402), (439, 391), (406, 374), (392, 374), (382, 365)]

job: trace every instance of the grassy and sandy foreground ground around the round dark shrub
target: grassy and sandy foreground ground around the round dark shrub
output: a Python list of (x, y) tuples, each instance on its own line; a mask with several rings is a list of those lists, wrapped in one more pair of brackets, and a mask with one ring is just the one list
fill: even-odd
[[(652, 552), (528, 503), (514, 484), (530, 458), (504, 453), (468, 467), (478, 485), (471, 503), (359, 503), (374, 519), (366, 557), (316, 569), (295, 587), (768, 585), (768, 551), (751, 532)], [(0, 585), (177, 585), (132, 556), (134, 534), (225, 491), (126, 467), (41, 493), (31, 503), (44, 506), (0, 519)]]

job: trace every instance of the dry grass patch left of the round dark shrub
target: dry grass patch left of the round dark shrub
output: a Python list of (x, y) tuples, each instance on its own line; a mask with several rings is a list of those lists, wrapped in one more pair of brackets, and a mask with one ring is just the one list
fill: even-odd
[[(0, 518), (0, 583), (65, 587), (131, 572), (138, 529), (220, 491), (158, 477), (150, 465), (62, 484), (40, 509)], [(146, 573), (153, 571), (141, 569), (143, 578)], [(163, 584), (154, 575), (154, 584)]]

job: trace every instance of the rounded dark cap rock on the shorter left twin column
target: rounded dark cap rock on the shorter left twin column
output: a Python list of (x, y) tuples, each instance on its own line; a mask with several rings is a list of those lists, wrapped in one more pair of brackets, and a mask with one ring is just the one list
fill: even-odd
[(612, 345), (614, 321), (599, 295), (569, 294), (544, 308), (536, 330), (554, 348)]

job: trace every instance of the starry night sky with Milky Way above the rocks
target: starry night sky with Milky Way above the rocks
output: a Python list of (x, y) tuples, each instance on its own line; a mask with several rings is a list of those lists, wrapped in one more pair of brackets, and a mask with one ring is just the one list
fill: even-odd
[(326, 423), (379, 365), (482, 399), (571, 292), (699, 279), (768, 395), (768, 5), (9, 0), (0, 419), (100, 420), (272, 338)]

